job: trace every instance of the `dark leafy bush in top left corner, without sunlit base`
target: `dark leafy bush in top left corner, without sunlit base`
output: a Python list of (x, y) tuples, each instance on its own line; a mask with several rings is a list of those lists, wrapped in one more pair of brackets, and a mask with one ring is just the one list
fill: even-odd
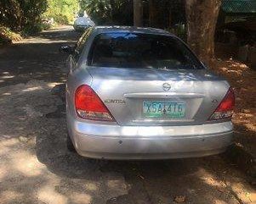
[(1, 0), (0, 24), (11, 30), (40, 30), (41, 14), (47, 8), (47, 0)]

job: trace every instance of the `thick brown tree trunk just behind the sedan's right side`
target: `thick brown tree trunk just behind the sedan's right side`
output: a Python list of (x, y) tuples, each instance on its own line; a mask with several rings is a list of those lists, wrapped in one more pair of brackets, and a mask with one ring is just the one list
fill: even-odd
[(187, 42), (203, 63), (214, 58), (214, 33), (221, 0), (186, 0)]

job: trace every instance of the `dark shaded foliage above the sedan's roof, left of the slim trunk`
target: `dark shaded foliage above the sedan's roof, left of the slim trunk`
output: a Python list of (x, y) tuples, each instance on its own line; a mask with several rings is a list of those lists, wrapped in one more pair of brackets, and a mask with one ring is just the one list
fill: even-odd
[(97, 25), (133, 25), (133, 0), (80, 0)]

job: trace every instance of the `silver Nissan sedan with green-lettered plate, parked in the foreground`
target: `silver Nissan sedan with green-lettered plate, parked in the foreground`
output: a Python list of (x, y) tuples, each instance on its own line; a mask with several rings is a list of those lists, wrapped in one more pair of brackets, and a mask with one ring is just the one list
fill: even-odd
[(224, 152), (235, 96), (165, 30), (94, 27), (70, 52), (67, 146), (84, 157), (163, 159)]

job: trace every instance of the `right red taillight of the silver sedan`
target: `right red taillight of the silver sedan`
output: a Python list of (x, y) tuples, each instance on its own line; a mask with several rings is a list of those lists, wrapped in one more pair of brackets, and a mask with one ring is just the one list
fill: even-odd
[(235, 108), (235, 94), (232, 88), (226, 93), (222, 102), (219, 103), (218, 108), (211, 115), (209, 120), (214, 119), (228, 119), (232, 117)]

